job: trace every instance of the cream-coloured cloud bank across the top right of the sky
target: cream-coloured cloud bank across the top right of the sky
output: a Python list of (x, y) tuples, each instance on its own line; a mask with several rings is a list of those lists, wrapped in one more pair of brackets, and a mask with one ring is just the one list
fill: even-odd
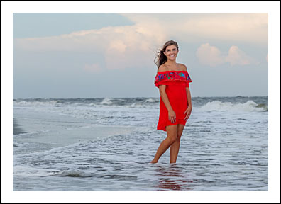
[[(121, 13), (159, 35), (185, 42), (226, 40), (268, 45), (268, 13)], [(159, 29), (160, 28), (160, 29)]]

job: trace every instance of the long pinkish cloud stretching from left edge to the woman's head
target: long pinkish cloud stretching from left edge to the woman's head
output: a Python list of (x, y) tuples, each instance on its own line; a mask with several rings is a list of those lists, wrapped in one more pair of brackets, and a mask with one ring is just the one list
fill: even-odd
[[(155, 30), (140, 24), (109, 26), (99, 30), (81, 30), (45, 38), (17, 38), (14, 48), (23, 52), (76, 52), (101, 54), (103, 69), (126, 69), (153, 63), (153, 56), (162, 38)], [(83, 67), (89, 70), (90, 67)]]

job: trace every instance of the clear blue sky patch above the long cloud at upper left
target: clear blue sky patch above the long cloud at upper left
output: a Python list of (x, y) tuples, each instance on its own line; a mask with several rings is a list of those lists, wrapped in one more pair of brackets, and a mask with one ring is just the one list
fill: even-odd
[(13, 13), (13, 38), (39, 38), (104, 26), (133, 25), (116, 13)]

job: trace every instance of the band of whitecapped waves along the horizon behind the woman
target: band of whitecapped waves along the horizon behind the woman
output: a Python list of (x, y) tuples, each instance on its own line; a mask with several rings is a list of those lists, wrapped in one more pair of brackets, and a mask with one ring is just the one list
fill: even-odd
[[(265, 97), (194, 97), (192, 104), (202, 111), (268, 111)], [(158, 108), (159, 97), (136, 98), (27, 98), (13, 99), (13, 108), (45, 108), (48, 111), (92, 111), (92, 108)], [(70, 111), (72, 112), (72, 111)], [(88, 114), (88, 113), (87, 113)]]

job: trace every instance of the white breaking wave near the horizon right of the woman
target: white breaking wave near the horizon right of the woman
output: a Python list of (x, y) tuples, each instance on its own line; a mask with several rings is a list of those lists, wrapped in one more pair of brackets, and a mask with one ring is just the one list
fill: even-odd
[(246, 103), (231, 103), (221, 101), (211, 101), (200, 108), (201, 111), (246, 111), (246, 112), (265, 112), (268, 106), (265, 103), (255, 103), (247, 101)]

